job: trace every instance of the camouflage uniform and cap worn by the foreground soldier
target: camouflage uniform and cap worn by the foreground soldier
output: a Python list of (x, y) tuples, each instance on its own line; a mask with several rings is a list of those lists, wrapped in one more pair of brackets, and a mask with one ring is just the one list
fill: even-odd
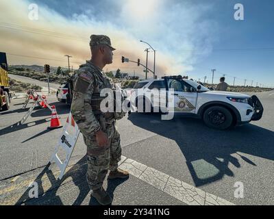
[[(95, 44), (103, 44), (102, 39), (110, 46), (109, 38), (92, 35), (90, 47)], [(92, 37), (90, 37), (92, 38)], [(111, 46), (110, 46), (111, 47)], [(111, 47), (112, 48), (112, 47)], [(103, 70), (100, 70), (92, 62), (80, 66), (73, 79), (73, 102), (71, 113), (83, 134), (87, 146), (87, 181), (91, 190), (101, 188), (108, 170), (116, 170), (121, 160), (120, 135), (116, 129), (116, 116), (113, 112), (102, 113), (100, 103), (104, 97), (100, 96), (103, 88), (114, 88), (112, 80)], [(123, 116), (121, 116), (123, 117)], [(102, 130), (108, 136), (109, 144), (99, 146), (95, 137), (97, 131)]]

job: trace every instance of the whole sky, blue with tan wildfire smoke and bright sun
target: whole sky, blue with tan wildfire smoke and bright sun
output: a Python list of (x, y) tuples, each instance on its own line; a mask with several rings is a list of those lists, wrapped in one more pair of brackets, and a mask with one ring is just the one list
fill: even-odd
[[(244, 20), (236, 21), (236, 3)], [(38, 6), (38, 16), (32, 8)], [(189, 75), (214, 83), (274, 87), (274, 1), (272, 0), (1, 0), (0, 51), (9, 64), (49, 64), (77, 69), (90, 59), (91, 34), (110, 37), (114, 62), (145, 77), (142, 66), (121, 63), (121, 56), (146, 64), (145, 49), (155, 49), (155, 73)], [(153, 51), (148, 67), (153, 70)], [(152, 76), (151, 73), (148, 74)], [(205, 79), (206, 77), (206, 79)]]

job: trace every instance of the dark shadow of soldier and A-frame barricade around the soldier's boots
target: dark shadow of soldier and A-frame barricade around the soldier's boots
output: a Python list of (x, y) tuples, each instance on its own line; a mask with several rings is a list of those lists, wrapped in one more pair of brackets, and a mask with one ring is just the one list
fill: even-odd
[[(86, 155), (82, 157), (75, 165), (73, 165), (73, 167), (68, 172), (66, 172), (61, 180), (55, 179), (53, 172), (49, 169), (49, 166), (50, 164), (47, 164), (42, 172), (40, 172), (38, 177), (34, 179), (34, 181), (38, 183), (38, 198), (30, 199), (29, 190), (32, 188), (28, 188), (21, 196), (21, 198), (19, 198), (19, 200), (16, 202), (16, 205), (22, 205), (23, 203), (24, 205), (81, 205), (83, 203), (86, 196), (90, 194), (90, 188), (88, 187), (88, 183), (86, 181)], [(45, 175), (47, 175), (51, 183), (50, 186), (46, 185), (46, 191), (42, 186), (45, 186), (45, 181), (42, 182), (42, 179), (45, 177)], [(70, 177), (72, 178), (74, 185), (71, 185), (71, 182), (64, 182)], [(107, 191), (109, 192), (110, 196), (113, 197), (113, 193), (116, 187), (124, 181), (125, 179), (112, 179), (111, 181), (108, 181)], [(61, 184), (62, 190), (60, 189)], [(75, 188), (75, 186), (77, 188)], [(60, 198), (60, 194), (62, 194), (62, 192), (65, 192), (66, 194), (73, 194), (72, 188), (75, 189), (74, 192), (78, 194), (77, 198), (73, 204), (71, 204), (71, 197), (68, 199), (68, 203), (64, 203)], [(99, 203), (95, 198), (90, 196), (89, 205), (99, 205)]]

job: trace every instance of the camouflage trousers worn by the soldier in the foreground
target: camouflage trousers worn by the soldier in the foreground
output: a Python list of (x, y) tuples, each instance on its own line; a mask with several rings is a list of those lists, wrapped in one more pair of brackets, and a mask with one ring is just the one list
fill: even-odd
[(98, 146), (95, 136), (84, 136), (88, 163), (86, 179), (91, 190), (101, 188), (108, 170), (116, 170), (121, 160), (120, 134), (116, 122), (106, 125), (105, 129), (109, 142), (107, 146)]

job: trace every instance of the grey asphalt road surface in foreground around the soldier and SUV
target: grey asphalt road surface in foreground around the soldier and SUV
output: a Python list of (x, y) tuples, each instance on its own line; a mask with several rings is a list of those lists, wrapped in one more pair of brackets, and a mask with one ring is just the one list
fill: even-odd
[[(126, 158), (121, 167), (129, 169), (131, 176), (127, 181), (105, 181), (114, 196), (113, 204), (273, 205), (273, 93), (258, 94), (265, 108), (260, 121), (229, 131), (209, 129), (201, 120), (180, 116), (166, 121), (157, 114), (134, 113), (119, 120)], [(56, 102), (55, 96), (48, 100), (57, 107), (64, 124), (69, 107)], [(47, 129), (47, 109), (34, 110), (25, 125), (17, 126), (26, 112), (21, 110), (22, 103), (23, 99), (14, 100), (9, 112), (0, 113), (0, 203), (96, 205), (84, 177), (82, 136), (71, 169), (63, 181), (55, 181), (53, 175), (58, 172), (50, 176), (45, 165), (62, 129)], [(27, 198), (31, 181), (43, 181), (44, 196)], [(244, 198), (234, 197), (236, 182), (243, 183)]]

